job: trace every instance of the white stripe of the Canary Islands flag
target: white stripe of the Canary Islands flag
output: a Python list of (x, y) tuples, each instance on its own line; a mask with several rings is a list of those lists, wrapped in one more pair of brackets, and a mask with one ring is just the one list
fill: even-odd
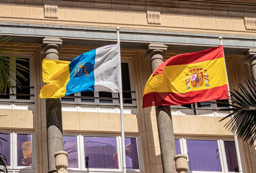
[(121, 92), (120, 44), (112, 44), (96, 49), (94, 65), (94, 90)]

